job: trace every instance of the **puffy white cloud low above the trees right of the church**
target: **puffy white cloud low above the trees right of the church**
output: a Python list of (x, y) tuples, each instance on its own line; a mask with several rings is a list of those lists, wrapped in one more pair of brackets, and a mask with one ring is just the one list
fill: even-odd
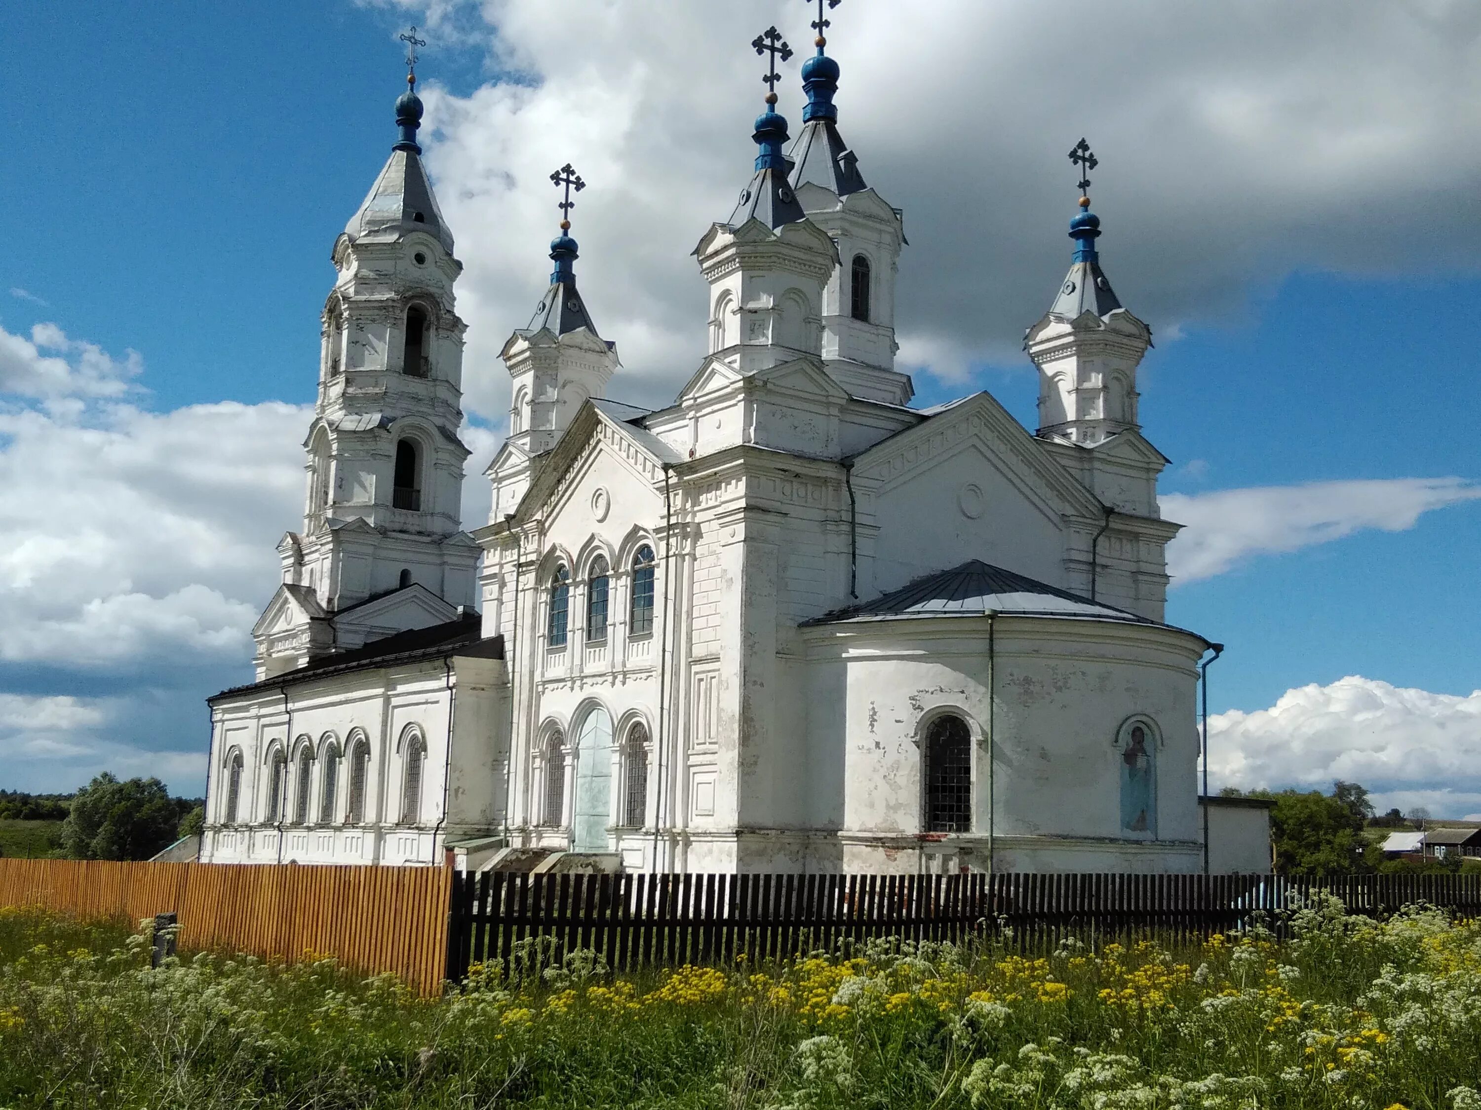
[(1459, 815), (1481, 804), (1481, 690), (1434, 694), (1351, 675), (1287, 690), (1269, 709), (1208, 718), (1214, 786), (1363, 783), (1382, 808)]

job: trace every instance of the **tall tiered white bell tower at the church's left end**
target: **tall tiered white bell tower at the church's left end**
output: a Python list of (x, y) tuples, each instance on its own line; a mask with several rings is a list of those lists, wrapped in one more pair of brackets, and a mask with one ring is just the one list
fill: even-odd
[(278, 545), (283, 585), (253, 629), (259, 679), (452, 620), (474, 599), (478, 548), (459, 506), (462, 263), (422, 166), (421, 120), (412, 70), (391, 157), (335, 240), (304, 530)]

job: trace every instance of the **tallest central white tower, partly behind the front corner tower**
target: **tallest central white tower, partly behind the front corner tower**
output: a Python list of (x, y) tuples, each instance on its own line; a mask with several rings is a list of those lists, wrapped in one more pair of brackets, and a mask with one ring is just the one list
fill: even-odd
[[(826, 0), (837, 7), (840, 0)], [(823, 289), (822, 355), (838, 383), (856, 397), (906, 404), (909, 374), (895, 369), (895, 274), (905, 246), (900, 210), (869, 188), (859, 158), (838, 133), (838, 62), (823, 53), (823, 0), (818, 1), (818, 53), (803, 64), (803, 130), (792, 144), (792, 188), (807, 218), (838, 247), (838, 266)]]

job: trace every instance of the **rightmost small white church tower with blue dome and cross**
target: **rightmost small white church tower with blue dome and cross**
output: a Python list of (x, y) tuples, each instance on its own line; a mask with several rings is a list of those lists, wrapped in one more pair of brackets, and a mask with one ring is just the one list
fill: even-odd
[[(1087, 175), (1096, 166), (1084, 139), (1069, 155)], [(1038, 435), (1096, 447), (1139, 428), (1136, 367), (1152, 345), (1152, 330), (1121, 306), (1100, 269), (1100, 218), (1090, 212), (1089, 176), (1080, 188), (1080, 213), (1069, 221), (1075, 240), (1069, 274), (1023, 348), (1038, 366)]]

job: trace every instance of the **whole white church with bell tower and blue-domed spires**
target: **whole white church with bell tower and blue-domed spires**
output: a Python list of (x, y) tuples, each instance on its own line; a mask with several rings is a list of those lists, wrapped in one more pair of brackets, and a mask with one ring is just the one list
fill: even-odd
[(561, 222), (468, 531), (462, 263), (409, 77), (335, 241), (256, 679), (209, 699), (201, 860), (1269, 870), (1268, 811), (1198, 793), (1217, 648), (1164, 622), (1151, 333), (1089, 198), (1025, 339), (1038, 429), (986, 392), (911, 407), (902, 215), (838, 132), (823, 46), (800, 133), (770, 93), (754, 176), (699, 235), (709, 317), (668, 407), (606, 400), (624, 369)]

